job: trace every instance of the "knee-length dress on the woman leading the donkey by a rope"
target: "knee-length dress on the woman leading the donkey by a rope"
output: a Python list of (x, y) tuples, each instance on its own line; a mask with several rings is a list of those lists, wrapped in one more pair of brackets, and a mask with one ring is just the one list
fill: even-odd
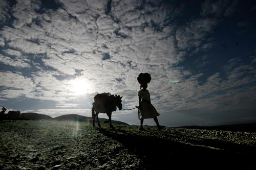
[(156, 108), (151, 104), (150, 92), (148, 90), (141, 89), (138, 92), (139, 98), (141, 98), (140, 103), (140, 113), (142, 118), (154, 118), (160, 114), (157, 112)]

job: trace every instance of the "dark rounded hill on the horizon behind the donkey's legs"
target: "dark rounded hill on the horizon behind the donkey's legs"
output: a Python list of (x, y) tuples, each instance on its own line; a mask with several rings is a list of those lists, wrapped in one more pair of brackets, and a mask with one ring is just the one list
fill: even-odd
[[(92, 122), (91, 117), (86, 117), (86, 116), (82, 116), (82, 115), (78, 115), (78, 114), (65, 114), (65, 115), (61, 115), (58, 117), (54, 117), (53, 119), (54, 120), (73, 120), (73, 121), (82, 121), (82, 122)], [(106, 121), (108, 121), (108, 119), (99, 118), (100, 123), (104, 123)], [(95, 122), (97, 123), (97, 119), (95, 119)], [(117, 121), (117, 120), (112, 120), (112, 123), (117, 124), (117, 125), (129, 125), (124, 122)]]

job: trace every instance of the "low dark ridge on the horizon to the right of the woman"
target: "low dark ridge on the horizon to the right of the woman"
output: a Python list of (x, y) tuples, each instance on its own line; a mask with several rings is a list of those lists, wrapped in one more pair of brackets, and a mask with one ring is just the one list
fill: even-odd
[(236, 125), (220, 125), (220, 126), (182, 126), (179, 128), (256, 132), (256, 123), (236, 124)]

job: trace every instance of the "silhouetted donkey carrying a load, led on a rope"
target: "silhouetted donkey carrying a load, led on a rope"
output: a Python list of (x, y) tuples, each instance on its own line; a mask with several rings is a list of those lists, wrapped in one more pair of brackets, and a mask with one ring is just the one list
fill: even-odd
[(114, 126), (111, 124), (111, 114), (113, 111), (116, 111), (116, 107), (118, 107), (119, 110), (122, 110), (121, 99), (122, 99), (122, 96), (120, 95), (113, 95), (110, 93), (96, 94), (94, 96), (94, 103), (92, 107), (93, 126), (95, 127), (94, 121), (95, 121), (95, 117), (97, 117), (98, 126), (100, 127), (98, 114), (106, 113), (106, 115), (109, 116), (110, 128), (114, 128)]

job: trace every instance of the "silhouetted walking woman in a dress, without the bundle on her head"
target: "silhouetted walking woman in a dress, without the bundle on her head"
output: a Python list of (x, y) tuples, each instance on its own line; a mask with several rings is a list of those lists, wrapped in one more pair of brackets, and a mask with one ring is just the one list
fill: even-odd
[(140, 130), (141, 131), (145, 131), (145, 129), (143, 128), (143, 121), (145, 118), (154, 118), (156, 124), (157, 124), (157, 128), (158, 130), (162, 130), (164, 128), (164, 126), (160, 126), (157, 116), (159, 116), (159, 113), (157, 112), (156, 108), (151, 104), (151, 100), (150, 100), (150, 92), (148, 92), (147, 88), (147, 84), (141, 84), (141, 87), (143, 89), (141, 89), (138, 92), (139, 95), (139, 110), (141, 113), (141, 119), (140, 119)]

